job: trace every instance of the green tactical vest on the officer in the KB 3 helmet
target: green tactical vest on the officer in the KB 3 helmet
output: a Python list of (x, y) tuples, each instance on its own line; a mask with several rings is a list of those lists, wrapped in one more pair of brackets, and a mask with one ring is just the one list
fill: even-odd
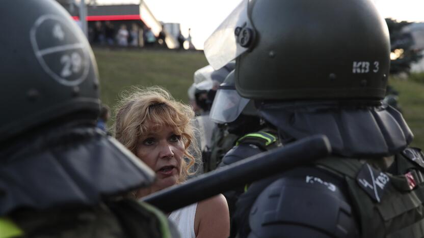
[(402, 154), (394, 163), (399, 174), (381, 172), (359, 159), (316, 162), (346, 181), (362, 238), (424, 237), (424, 168)]

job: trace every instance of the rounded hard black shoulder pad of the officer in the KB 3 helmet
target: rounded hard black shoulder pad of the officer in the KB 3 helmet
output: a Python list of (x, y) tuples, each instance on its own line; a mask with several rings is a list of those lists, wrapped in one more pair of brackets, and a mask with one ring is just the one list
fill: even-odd
[(252, 237), (358, 234), (351, 206), (340, 189), (307, 175), (304, 179), (281, 178), (264, 189), (251, 209), (249, 224)]

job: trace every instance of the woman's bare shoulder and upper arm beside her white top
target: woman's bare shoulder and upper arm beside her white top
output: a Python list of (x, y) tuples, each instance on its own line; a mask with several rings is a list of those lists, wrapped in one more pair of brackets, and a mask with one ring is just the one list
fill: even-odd
[[(227, 200), (222, 194), (197, 204), (195, 233), (200, 237), (227, 237), (230, 218)], [(219, 233), (223, 234), (219, 234)]]

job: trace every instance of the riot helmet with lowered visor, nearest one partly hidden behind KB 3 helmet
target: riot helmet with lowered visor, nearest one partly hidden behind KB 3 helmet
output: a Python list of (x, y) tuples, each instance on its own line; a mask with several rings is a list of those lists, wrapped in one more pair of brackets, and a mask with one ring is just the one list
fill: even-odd
[(209, 117), (218, 124), (234, 122), (240, 114), (257, 115), (253, 100), (243, 98), (235, 90), (234, 70), (218, 87)]

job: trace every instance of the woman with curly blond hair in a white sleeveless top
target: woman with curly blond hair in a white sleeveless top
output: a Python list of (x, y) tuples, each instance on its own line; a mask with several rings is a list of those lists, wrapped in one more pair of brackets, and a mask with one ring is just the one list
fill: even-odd
[[(196, 159), (192, 108), (160, 87), (135, 89), (119, 104), (116, 139), (155, 173), (156, 182), (140, 189), (140, 198), (186, 180)], [(175, 198), (178, 199), (178, 198)], [(172, 201), (170, 201), (172, 202)], [(181, 237), (228, 237), (228, 205), (222, 195), (194, 203), (169, 215)]]

